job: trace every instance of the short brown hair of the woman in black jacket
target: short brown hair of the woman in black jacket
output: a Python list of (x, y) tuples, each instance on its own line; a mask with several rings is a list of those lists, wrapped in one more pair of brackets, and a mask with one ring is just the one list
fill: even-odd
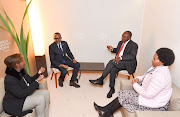
[(14, 68), (16, 64), (23, 60), (22, 54), (12, 54), (4, 59), (4, 63), (7, 67)]

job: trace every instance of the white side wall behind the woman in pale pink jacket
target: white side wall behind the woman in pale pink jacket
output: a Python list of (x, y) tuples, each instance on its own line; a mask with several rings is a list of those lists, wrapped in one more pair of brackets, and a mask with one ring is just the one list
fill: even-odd
[(138, 74), (151, 66), (151, 59), (158, 48), (171, 48), (176, 56), (170, 68), (173, 82), (180, 87), (180, 1), (147, 0), (143, 20), (142, 41)]

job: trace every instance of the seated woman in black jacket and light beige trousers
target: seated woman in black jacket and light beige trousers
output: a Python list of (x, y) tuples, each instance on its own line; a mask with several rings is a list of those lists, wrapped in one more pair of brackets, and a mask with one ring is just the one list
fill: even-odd
[[(7, 114), (22, 117), (36, 109), (36, 117), (48, 117), (49, 92), (37, 90), (39, 81), (44, 78), (41, 68), (36, 75), (30, 77), (24, 70), (25, 62), (21, 54), (13, 54), (5, 58), (7, 74), (4, 79), (5, 96), (3, 109)], [(46, 112), (47, 111), (47, 112)]]

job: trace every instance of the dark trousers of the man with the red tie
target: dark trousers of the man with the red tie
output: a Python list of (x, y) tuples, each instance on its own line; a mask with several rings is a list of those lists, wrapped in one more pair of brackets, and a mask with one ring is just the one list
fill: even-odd
[(109, 87), (114, 87), (116, 74), (120, 70), (126, 70), (124, 62), (120, 61), (118, 64), (116, 64), (112, 60), (110, 60), (108, 62), (108, 64), (106, 65), (106, 68), (104, 69), (103, 74), (102, 74), (100, 80), (104, 80), (106, 78), (106, 76), (110, 73), (110, 84), (109, 84)]

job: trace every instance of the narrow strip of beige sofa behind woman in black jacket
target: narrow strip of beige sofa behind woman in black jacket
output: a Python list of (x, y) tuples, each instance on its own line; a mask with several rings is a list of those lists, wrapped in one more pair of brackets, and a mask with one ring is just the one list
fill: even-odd
[(3, 111), (2, 102), (4, 97), (4, 78), (0, 78), (0, 113)]

